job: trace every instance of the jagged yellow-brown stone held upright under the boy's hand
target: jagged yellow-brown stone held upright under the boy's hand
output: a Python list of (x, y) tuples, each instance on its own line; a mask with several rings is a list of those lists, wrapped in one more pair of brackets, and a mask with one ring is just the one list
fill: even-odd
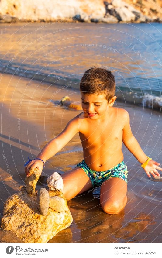
[(25, 178), (26, 184), (26, 191), (28, 194), (33, 194), (36, 189), (36, 183), (40, 177), (39, 169), (35, 168), (34, 170), (30, 171), (31, 175)]

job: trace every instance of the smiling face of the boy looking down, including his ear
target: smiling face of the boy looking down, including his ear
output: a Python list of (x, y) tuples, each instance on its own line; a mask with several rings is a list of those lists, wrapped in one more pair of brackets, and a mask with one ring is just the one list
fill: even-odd
[(82, 108), (86, 115), (91, 119), (103, 118), (108, 114), (109, 106), (113, 106), (116, 96), (108, 103), (105, 94), (84, 94), (81, 92)]

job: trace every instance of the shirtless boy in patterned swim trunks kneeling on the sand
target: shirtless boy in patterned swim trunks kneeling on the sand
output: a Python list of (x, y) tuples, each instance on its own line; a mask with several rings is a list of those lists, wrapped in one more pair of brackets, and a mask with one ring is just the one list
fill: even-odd
[[(160, 163), (151, 160), (140, 148), (129, 125), (129, 114), (113, 107), (116, 100), (115, 78), (101, 68), (87, 70), (80, 83), (83, 112), (52, 139), (25, 167), (39, 168), (60, 151), (78, 132), (83, 146), (84, 160), (73, 170), (61, 175), (63, 193), (67, 200), (96, 186), (101, 187), (100, 203), (104, 212), (119, 213), (127, 202), (127, 167), (123, 161), (122, 142), (142, 164), (148, 177), (160, 176)], [(40, 160), (39, 160), (40, 159)], [(42, 162), (43, 161), (43, 162)]]

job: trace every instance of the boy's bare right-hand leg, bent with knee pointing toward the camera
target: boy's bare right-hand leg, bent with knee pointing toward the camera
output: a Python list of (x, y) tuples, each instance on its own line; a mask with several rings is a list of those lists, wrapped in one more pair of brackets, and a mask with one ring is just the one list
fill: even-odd
[(119, 213), (127, 203), (127, 184), (117, 177), (109, 178), (101, 186), (100, 203), (104, 212)]

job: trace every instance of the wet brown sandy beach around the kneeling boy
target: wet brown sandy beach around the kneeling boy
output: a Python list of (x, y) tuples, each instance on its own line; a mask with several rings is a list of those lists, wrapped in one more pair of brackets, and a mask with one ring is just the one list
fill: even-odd
[[(54, 105), (53, 101), (69, 95), (80, 100), (79, 93), (68, 87), (50, 86), (5, 74), (0, 76), (1, 105), (1, 204), (24, 185), (24, 163), (35, 157), (52, 137), (80, 111)], [(49, 99), (51, 98), (51, 102)], [(116, 102), (130, 114), (131, 128), (146, 155), (162, 163), (161, 128), (159, 112)], [(149, 140), (151, 139), (151, 140)], [(162, 182), (149, 180), (140, 164), (123, 146), (124, 161), (128, 166), (128, 203), (118, 215), (107, 215), (99, 204), (99, 189), (87, 191), (68, 201), (73, 223), (59, 232), (48, 243), (161, 243)], [(2, 154), (10, 170), (7, 171)], [(66, 173), (83, 158), (77, 134), (59, 153), (46, 162), (45, 177), (54, 171)], [(37, 185), (37, 189), (41, 184)], [(10, 231), (0, 231), (2, 243), (23, 243)]]

